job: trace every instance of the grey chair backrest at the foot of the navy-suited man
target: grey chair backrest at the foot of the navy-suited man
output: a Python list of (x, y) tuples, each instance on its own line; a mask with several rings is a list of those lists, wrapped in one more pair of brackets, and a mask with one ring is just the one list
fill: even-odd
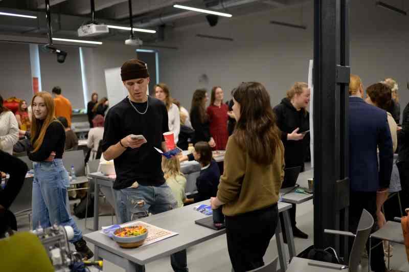
[(356, 235), (355, 235), (354, 243), (352, 245), (352, 250), (349, 255), (349, 271), (350, 272), (359, 271), (359, 264), (360, 264), (363, 248), (365, 248), (369, 235), (371, 234), (373, 225), (374, 225), (374, 218), (367, 210), (363, 209), (361, 218), (359, 219), (358, 228), (356, 230)]

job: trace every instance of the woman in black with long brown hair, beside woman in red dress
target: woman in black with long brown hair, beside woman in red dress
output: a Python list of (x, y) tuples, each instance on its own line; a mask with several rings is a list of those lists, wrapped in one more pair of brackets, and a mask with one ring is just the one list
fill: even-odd
[(193, 93), (192, 106), (190, 108), (190, 121), (195, 130), (192, 139), (193, 144), (204, 141), (208, 142), (210, 147), (215, 147), (216, 143), (209, 129), (209, 117), (206, 114), (206, 102), (208, 101), (208, 94), (206, 89), (197, 89)]

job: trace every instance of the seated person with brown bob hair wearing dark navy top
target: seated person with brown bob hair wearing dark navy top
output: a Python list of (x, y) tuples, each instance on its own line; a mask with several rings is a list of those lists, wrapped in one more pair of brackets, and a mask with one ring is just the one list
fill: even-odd
[(195, 144), (193, 156), (201, 165), (200, 174), (196, 178), (197, 194), (194, 202), (210, 199), (217, 194), (219, 186), (220, 170), (216, 161), (212, 157), (212, 149), (206, 142)]

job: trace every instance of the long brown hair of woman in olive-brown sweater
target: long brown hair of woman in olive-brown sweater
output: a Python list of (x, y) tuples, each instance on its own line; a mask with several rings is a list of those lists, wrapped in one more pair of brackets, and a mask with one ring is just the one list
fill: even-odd
[(277, 149), (283, 147), (267, 90), (261, 83), (243, 82), (232, 95), (240, 104), (240, 118), (233, 137), (256, 163), (271, 164)]

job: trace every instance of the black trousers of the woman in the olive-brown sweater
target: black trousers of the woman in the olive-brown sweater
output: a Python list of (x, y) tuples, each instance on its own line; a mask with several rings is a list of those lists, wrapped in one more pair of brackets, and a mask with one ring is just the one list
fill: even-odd
[(261, 210), (225, 217), (227, 246), (235, 272), (264, 265), (263, 256), (276, 232), (277, 222), (277, 203)]

